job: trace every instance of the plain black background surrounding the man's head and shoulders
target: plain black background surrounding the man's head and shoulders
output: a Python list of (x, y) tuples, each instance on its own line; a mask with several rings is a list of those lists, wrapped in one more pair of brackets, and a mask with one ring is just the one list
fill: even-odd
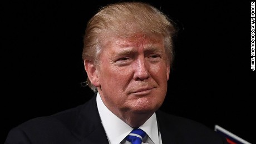
[[(90, 99), (81, 58), (86, 22), (117, 1), (1, 2), (1, 123), (8, 131)], [(161, 110), (255, 143), (250, 2), (145, 1), (180, 27)], [(253, 137), (254, 136), (254, 137)]]

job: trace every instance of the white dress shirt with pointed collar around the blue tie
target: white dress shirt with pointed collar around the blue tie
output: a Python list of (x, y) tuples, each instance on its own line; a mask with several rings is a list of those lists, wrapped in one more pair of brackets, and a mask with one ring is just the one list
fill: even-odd
[[(99, 92), (97, 93), (97, 107), (99, 110), (101, 123), (107, 135), (110, 144), (130, 144), (125, 137), (133, 130), (119, 117), (114, 115), (102, 102)], [(157, 127), (155, 113), (139, 128), (146, 132), (142, 143), (162, 144), (161, 134)]]

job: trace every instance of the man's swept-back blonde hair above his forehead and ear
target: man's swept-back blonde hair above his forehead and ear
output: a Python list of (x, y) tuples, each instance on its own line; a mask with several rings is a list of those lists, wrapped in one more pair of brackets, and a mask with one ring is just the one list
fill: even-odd
[[(104, 48), (102, 42), (107, 41), (110, 33), (129, 37), (137, 32), (164, 36), (167, 61), (173, 62), (174, 23), (155, 7), (142, 2), (120, 2), (102, 7), (87, 23), (82, 58), (96, 65)], [(87, 85), (97, 91), (88, 78)]]

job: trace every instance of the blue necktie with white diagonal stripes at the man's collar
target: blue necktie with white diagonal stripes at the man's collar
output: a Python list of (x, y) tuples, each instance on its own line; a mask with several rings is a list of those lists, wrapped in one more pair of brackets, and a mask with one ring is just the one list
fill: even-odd
[(126, 136), (126, 140), (131, 142), (132, 144), (141, 144), (143, 137), (146, 133), (141, 129), (134, 129), (131, 133)]

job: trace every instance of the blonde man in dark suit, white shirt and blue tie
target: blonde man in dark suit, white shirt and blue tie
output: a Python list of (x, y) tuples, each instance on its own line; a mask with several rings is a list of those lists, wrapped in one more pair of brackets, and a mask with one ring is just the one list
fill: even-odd
[(159, 111), (174, 35), (170, 19), (149, 4), (101, 8), (87, 24), (82, 53), (95, 96), (13, 128), (5, 143), (226, 143), (200, 123)]

